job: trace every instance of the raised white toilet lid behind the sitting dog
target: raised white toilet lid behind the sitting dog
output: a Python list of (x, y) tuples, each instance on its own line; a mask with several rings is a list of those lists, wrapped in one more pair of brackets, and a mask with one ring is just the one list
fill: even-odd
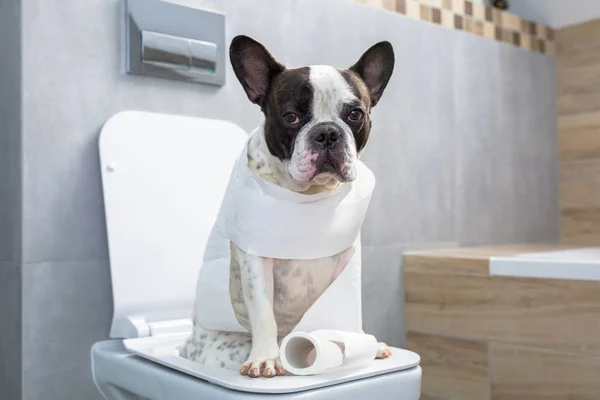
[(231, 122), (204, 118), (126, 111), (106, 122), (111, 337), (139, 336), (136, 319), (191, 318), (204, 247), (247, 138)]

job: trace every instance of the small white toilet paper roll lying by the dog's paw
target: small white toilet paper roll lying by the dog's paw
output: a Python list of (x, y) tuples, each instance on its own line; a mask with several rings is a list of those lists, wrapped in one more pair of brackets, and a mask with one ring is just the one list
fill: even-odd
[(370, 365), (377, 355), (373, 335), (318, 330), (292, 332), (281, 342), (283, 368), (294, 375), (317, 375)]

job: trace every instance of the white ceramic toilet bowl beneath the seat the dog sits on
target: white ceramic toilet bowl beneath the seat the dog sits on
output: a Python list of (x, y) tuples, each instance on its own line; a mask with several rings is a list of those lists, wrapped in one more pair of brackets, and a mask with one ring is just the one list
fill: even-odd
[[(164, 368), (127, 352), (120, 340), (96, 343), (92, 348), (92, 365), (96, 386), (109, 400), (253, 400), (265, 396), (230, 390)], [(272, 400), (417, 400), (420, 389), (421, 368), (417, 366), (323, 389), (268, 396)]]

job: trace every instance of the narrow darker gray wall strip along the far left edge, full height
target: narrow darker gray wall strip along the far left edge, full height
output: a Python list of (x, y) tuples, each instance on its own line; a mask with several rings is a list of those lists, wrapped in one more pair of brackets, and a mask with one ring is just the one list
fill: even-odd
[(0, 397), (21, 397), (21, 7), (0, 0)]

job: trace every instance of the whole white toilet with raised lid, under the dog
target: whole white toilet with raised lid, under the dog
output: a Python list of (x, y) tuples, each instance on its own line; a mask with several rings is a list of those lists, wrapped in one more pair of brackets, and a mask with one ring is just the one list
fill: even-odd
[(106, 399), (417, 400), (419, 356), (393, 349), (368, 368), (250, 379), (179, 357), (196, 279), (231, 169), (247, 140), (226, 121), (127, 111), (100, 135), (113, 340), (92, 347)]

